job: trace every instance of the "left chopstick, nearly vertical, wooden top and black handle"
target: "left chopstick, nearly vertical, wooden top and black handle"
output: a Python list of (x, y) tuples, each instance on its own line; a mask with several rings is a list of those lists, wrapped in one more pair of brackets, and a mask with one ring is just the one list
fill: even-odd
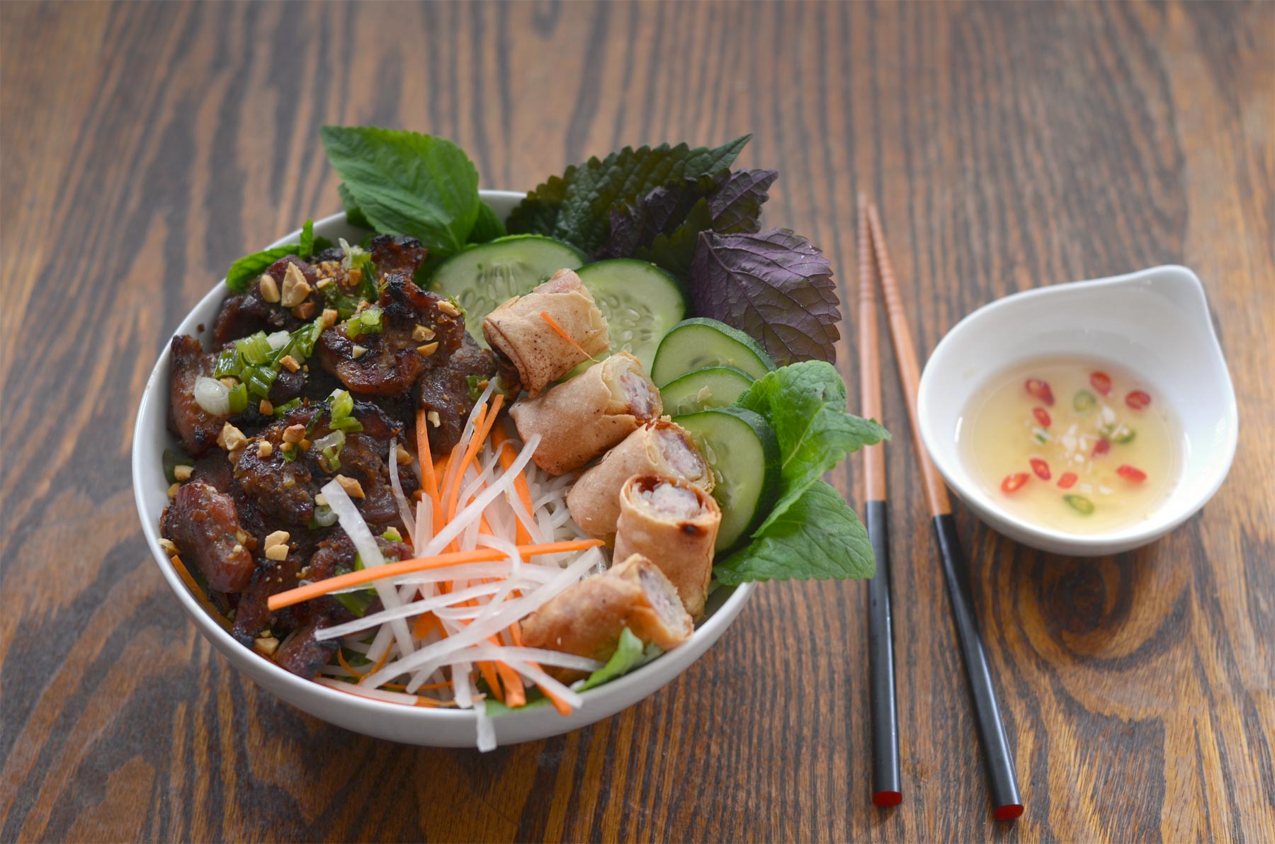
[[(867, 196), (859, 194), (859, 414), (881, 422), (881, 348)], [(885, 445), (863, 454), (863, 520), (876, 555), (868, 581), (868, 677), (872, 696), (872, 802), (903, 802), (899, 771), (899, 711), (894, 687), (894, 631), (890, 620), (890, 535), (885, 504)]]

